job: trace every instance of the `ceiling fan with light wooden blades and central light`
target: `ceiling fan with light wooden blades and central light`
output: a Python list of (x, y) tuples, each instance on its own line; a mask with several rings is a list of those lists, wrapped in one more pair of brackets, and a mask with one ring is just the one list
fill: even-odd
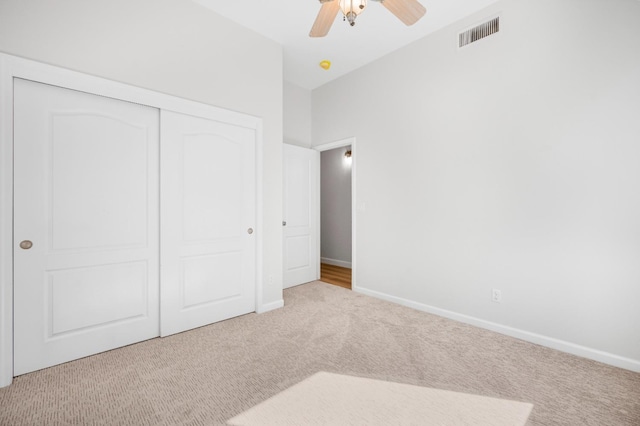
[[(381, 3), (387, 10), (393, 13), (405, 25), (413, 25), (427, 9), (418, 0), (371, 0)], [(320, 12), (311, 27), (310, 37), (324, 37), (329, 32), (333, 21), (336, 20), (338, 11), (342, 10), (345, 20), (351, 26), (355, 25), (356, 17), (367, 6), (367, 0), (320, 0)]]

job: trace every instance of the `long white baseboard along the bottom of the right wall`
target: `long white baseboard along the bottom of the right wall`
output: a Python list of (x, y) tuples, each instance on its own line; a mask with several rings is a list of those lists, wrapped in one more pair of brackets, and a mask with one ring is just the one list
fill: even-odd
[(353, 291), (365, 294), (367, 296), (376, 297), (378, 299), (386, 300), (388, 302), (397, 303), (399, 305), (407, 306), (419, 311), (428, 312), (430, 314), (438, 315), (441, 317), (449, 318), (455, 321), (460, 321), (466, 324), (471, 324), (476, 327), (484, 328), (487, 330), (495, 331), (500, 334), (515, 337), (520, 340), (535, 343), (537, 345), (546, 346), (551, 349), (556, 349), (562, 352), (567, 352), (573, 355), (577, 355), (583, 358), (592, 359), (594, 361), (602, 362), (604, 364), (613, 365), (614, 367), (624, 368), (640, 373), (640, 360), (631, 358), (625, 358), (619, 355), (603, 352), (597, 349), (588, 348), (586, 346), (576, 345), (564, 340), (554, 339), (553, 337), (543, 336), (541, 334), (531, 333), (529, 331), (520, 330), (506, 325), (497, 324), (491, 321), (485, 321), (480, 318), (471, 317), (457, 312), (447, 311), (446, 309), (436, 308), (434, 306), (425, 305), (423, 303), (414, 302), (412, 300), (403, 299), (401, 297), (391, 296), (386, 293), (381, 293), (375, 290), (369, 290), (362, 287), (354, 288)]

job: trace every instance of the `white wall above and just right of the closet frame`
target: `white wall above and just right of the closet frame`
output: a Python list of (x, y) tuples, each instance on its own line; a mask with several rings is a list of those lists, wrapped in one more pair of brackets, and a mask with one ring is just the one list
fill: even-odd
[(0, 51), (262, 117), (263, 301), (282, 299), (281, 46), (189, 1), (3, 0)]

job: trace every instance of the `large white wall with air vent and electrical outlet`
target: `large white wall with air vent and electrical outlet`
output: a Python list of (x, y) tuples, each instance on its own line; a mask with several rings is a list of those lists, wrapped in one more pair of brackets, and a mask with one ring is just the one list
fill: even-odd
[(358, 138), (357, 286), (640, 371), (639, 23), (505, 0), (316, 89), (313, 144)]

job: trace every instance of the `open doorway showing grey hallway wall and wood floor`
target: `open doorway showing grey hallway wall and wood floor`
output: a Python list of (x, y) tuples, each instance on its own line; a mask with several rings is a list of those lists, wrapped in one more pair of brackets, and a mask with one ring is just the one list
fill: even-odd
[(320, 280), (352, 289), (354, 266), (355, 139), (320, 152)]

